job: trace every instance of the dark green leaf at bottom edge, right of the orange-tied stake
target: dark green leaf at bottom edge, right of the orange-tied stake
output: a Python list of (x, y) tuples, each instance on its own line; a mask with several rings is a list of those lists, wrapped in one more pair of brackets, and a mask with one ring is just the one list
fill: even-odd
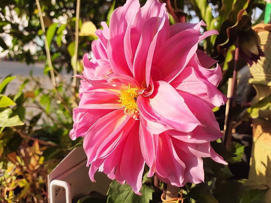
[(200, 186), (193, 187), (185, 198), (192, 198), (195, 201), (202, 203), (219, 203), (217, 199), (206, 189)]

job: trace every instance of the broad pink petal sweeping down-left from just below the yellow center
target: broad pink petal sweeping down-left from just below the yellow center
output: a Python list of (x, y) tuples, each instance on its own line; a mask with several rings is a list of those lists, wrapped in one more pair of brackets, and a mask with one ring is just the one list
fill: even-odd
[(97, 149), (103, 141), (110, 134), (118, 133), (129, 119), (123, 113), (123, 109), (118, 109), (101, 117), (89, 128), (83, 142), (83, 147), (88, 157), (88, 164), (96, 160)]

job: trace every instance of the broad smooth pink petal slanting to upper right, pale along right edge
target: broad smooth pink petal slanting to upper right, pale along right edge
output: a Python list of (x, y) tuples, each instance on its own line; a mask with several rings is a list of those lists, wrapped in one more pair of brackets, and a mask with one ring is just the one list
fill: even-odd
[(202, 35), (189, 29), (182, 31), (166, 41), (153, 56), (153, 65), (159, 67), (163, 81), (170, 82), (184, 69), (197, 50)]

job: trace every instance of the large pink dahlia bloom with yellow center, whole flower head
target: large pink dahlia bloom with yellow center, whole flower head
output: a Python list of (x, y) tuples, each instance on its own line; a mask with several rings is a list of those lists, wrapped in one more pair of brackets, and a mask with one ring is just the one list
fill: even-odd
[(181, 187), (204, 181), (202, 157), (227, 164), (210, 146), (222, 137), (212, 109), (227, 98), (217, 90), (221, 69), (197, 49), (215, 30), (169, 25), (165, 3), (127, 0), (101, 22), (84, 56), (71, 139), (84, 137), (90, 165), (140, 194), (144, 165), (163, 182)]

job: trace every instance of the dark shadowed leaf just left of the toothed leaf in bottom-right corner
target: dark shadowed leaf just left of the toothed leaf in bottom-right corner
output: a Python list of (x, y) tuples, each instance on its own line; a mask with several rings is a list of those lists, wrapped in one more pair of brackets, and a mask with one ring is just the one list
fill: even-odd
[(238, 181), (228, 180), (219, 185), (219, 189), (213, 193), (219, 203), (239, 203), (238, 196), (244, 190), (244, 185)]

